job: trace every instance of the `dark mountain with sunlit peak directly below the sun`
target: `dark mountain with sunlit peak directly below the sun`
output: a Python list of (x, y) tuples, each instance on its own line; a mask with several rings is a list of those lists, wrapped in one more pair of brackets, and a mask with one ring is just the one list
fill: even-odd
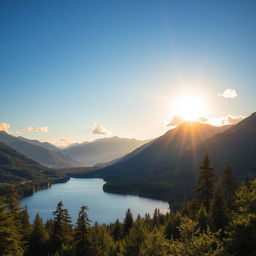
[[(86, 175), (104, 178), (107, 181), (104, 190), (108, 192), (138, 194), (168, 201), (184, 199), (187, 191), (195, 185), (197, 168), (202, 161), (200, 157), (195, 158), (196, 161), (192, 158), (199, 152), (197, 148), (204, 141), (230, 129), (232, 127), (184, 122), (113, 165)], [(202, 150), (203, 157), (207, 150)]]

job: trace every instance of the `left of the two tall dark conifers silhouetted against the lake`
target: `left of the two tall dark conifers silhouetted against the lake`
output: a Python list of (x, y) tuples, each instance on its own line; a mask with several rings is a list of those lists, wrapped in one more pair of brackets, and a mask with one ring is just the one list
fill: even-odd
[(70, 245), (73, 230), (68, 210), (63, 208), (62, 201), (57, 204), (56, 211), (53, 212), (53, 215), (50, 251), (55, 253)]

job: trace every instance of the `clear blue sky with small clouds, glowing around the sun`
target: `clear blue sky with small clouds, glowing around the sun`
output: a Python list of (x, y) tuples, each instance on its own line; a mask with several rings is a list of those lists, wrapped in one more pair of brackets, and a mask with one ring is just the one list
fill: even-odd
[(146, 139), (195, 105), (213, 124), (256, 111), (255, 0), (3, 0), (0, 35), (15, 136)]

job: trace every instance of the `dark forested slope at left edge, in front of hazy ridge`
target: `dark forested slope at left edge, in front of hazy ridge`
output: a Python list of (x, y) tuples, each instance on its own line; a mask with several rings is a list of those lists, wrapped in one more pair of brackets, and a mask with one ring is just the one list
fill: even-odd
[(0, 183), (26, 183), (60, 178), (61, 174), (26, 158), (0, 142)]

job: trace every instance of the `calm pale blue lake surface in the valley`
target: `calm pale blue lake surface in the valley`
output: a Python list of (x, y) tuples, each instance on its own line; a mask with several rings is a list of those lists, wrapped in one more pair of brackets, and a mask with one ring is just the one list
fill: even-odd
[(169, 209), (168, 203), (163, 201), (106, 193), (103, 191), (103, 184), (102, 179), (71, 178), (67, 183), (55, 184), (49, 189), (38, 191), (24, 198), (21, 203), (28, 207), (31, 221), (37, 212), (46, 221), (52, 218), (57, 203), (62, 201), (73, 223), (76, 222), (81, 205), (89, 207), (88, 215), (92, 223), (110, 223), (117, 218), (122, 221), (128, 208), (134, 217), (138, 214), (144, 216), (146, 213), (152, 216), (155, 208), (162, 213)]

